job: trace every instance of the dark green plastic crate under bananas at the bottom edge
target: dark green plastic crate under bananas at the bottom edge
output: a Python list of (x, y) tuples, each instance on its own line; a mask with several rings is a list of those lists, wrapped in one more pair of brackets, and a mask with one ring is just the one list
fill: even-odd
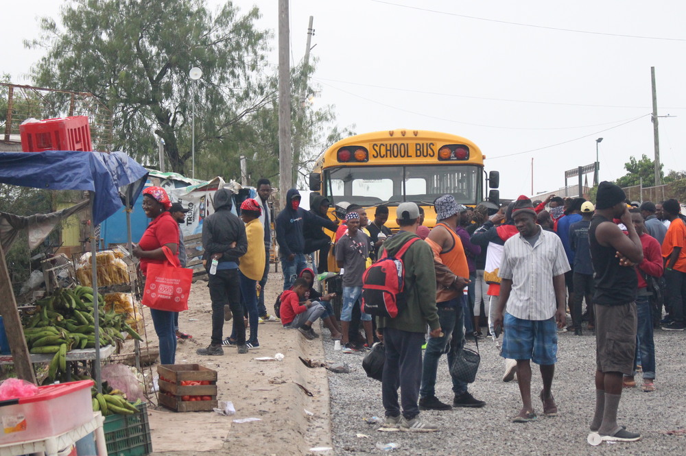
[(107, 454), (110, 456), (145, 456), (152, 453), (150, 422), (147, 420), (147, 405), (136, 406), (132, 415), (110, 415), (105, 417), (103, 430)]

